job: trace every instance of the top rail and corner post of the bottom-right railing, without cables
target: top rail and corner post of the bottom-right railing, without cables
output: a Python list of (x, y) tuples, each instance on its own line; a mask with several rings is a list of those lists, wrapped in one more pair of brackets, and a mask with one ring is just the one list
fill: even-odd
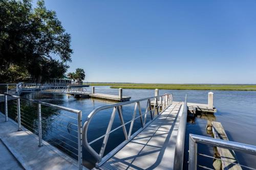
[(189, 134), (189, 170), (197, 169), (197, 143), (203, 143), (214, 147), (256, 155), (256, 146), (254, 145)]

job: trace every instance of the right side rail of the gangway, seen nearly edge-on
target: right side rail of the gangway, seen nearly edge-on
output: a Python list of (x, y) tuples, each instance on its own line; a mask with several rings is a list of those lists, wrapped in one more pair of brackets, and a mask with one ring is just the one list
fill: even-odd
[(174, 169), (183, 169), (183, 157), (184, 157), (184, 143), (187, 125), (187, 94), (185, 96), (184, 106), (182, 115), (180, 117), (180, 124), (178, 129), (176, 147), (175, 147), (175, 157), (174, 157)]

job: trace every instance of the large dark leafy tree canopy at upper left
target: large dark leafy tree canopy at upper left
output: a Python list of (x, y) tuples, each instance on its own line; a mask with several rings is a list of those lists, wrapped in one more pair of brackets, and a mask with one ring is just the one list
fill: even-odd
[[(61, 78), (71, 62), (71, 36), (44, 1), (0, 1), (0, 82), (12, 81), (10, 68), (35, 82)], [(21, 75), (22, 76), (22, 75)]]

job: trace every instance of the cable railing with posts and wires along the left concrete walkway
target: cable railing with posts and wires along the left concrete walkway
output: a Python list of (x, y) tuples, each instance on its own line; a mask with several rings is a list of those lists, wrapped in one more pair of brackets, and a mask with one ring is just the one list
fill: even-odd
[[(82, 112), (5, 93), (0, 101), (5, 120), (17, 123), (17, 130), (30, 130), (38, 136), (38, 146), (47, 141), (78, 162), (82, 169)], [(3, 99), (4, 98), (4, 99)]]

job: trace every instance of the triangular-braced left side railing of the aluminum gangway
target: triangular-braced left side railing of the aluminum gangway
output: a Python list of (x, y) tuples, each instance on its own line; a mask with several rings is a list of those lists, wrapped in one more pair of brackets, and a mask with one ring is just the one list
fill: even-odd
[[(121, 103), (112, 104), (112, 105), (105, 105), (105, 106), (101, 106), (101, 107), (94, 109), (88, 115), (86, 122), (83, 124), (83, 129), (82, 129), (83, 140), (82, 140), (82, 142), (83, 142), (83, 146), (87, 149), (87, 151), (96, 159), (96, 161), (97, 161), (96, 167), (99, 167), (100, 165), (102, 165), (106, 160), (108, 160), (115, 153), (117, 153), (127, 142), (131, 141), (138, 133), (140, 133), (145, 127), (147, 127), (158, 115), (160, 115), (166, 108), (168, 108), (172, 104), (172, 101), (173, 101), (172, 94), (164, 94), (164, 95), (153, 96), (151, 98), (135, 100), (135, 101), (121, 102)], [(142, 113), (142, 107), (141, 107), (142, 102), (145, 102), (145, 105), (146, 105), (143, 113)], [(131, 115), (131, 117), (130, 117), (131, 119), (129, 121), (125, 122), (123, 111), (127, 105), (130, 107), (134, 106), (134, 110), (133, 110), (132, 114), (131, 114), (131, 112), (128, 113)], [(96, 139), (93, 139), (92, 141), (89, 142), (88, 141), (89, 125), (90, 125), (92, 119), (94, 118), (94, 116), (103, 110), (105, 110), (105, 111), (112, 110), (106, 131), (103, 135), (101, 135), (101, 136), (97, 137)], [(138, 110), (138, 114), (137, 114), (137, 110)], [(117, 117), (119, 117), (118, 119), (120, 120), (121, 125), (118, 127), (114, 127), (114, 129), (112, 129), (114, 119), (116, 117), (116, 113), (118, 113)], [(147, 120), (148, 116), (150, 116), (150, 120)], [(140, 120), (141, 128), (138, 129), (136, 132), (134, 132), (133, 128), (134, 128), (136, 119)], [(126, 127), (129, 125), (130, 125), (130, 128), (127, 130)], [(119, 129), (123, 132), (124, 141), (122, 143), (120, 143), (116, 148), (114, 148), (111, 152), (104, 155), (105, 150), (106, 150), (106, 144), (108, 143), (110, 134)], [(96, 152), (92, 148), (91, 145), (94, 144), (95, 142), (100, 142), (100, 141), (102, 141), (100, 151)]]

